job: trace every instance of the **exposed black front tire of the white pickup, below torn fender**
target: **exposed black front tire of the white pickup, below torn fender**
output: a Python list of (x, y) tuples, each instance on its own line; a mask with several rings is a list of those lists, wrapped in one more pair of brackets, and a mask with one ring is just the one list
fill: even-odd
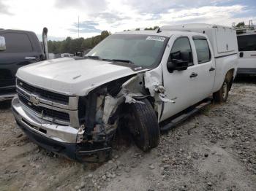
[(129, 131), (135, 144), (144, 152), (159, 144), (159, 125), (157, 116), (147, 99), (140, 100), (145, 104), (129, 104)]

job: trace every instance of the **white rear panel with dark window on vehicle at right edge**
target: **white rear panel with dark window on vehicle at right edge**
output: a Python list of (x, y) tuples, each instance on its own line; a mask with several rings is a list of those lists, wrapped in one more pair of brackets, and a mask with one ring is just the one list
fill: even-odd
[(238, 50), (240, 58), (238, 58), (238, 70), (244, 73), (256, 73), (256, 34), (243, 34), (237, 36)]

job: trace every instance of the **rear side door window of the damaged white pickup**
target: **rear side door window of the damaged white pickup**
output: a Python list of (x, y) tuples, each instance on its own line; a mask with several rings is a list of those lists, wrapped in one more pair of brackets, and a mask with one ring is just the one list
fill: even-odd
[(204, 36), (193, 37), (195, 43), (195, 50), (197, 51), (197, 61), (198, 63), (206, 63), (211, 61), (211, 51)]

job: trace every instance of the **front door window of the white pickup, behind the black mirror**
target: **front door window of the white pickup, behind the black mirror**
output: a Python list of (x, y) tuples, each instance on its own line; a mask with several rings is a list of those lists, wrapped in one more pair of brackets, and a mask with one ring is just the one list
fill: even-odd
[(189, 38), (180, 37), (176, 39), (173, 43), (172, 50), (168, 58), (168, 62), (171, 62), (173, 59), (187, 61), (189, 66), (193, 65), (192, 50), (189, 43)]

